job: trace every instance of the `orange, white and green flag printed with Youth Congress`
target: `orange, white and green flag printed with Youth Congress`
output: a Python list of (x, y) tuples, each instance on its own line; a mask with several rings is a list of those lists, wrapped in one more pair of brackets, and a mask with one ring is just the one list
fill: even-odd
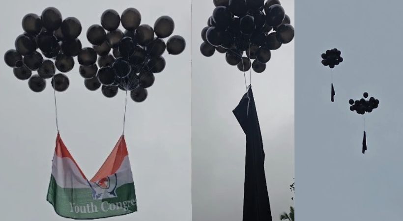
[(58, 134), (47, 200), (58, 215), (79, 220), (136, 212), (136, 193), (124, 136), (88, 180)]

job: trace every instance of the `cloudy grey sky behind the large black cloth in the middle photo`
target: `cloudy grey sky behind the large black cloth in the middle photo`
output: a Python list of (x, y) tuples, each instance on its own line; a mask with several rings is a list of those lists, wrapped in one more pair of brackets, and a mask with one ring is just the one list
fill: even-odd
[[(294, 24), (294, 1), (281, 2)], [(214, 5), (212, 0), (192, 3), (192, 217), (193, 221), (240, 221), (245, 134), (232, 110), (245, 93), (244, 77), (224, 54), (201, 55), (200, 33)], [(292, 204), (288, 187), (294, 176), (293, 42), (272, 52), (265, 72), (252, 72), (252, 88), (266, 153), (272, 217), (279, 220)]]

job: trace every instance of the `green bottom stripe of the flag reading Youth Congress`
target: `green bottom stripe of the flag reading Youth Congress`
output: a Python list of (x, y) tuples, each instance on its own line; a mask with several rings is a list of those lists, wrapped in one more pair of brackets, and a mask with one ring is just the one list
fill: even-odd
[(120, 216), (137, 211), (134, 183), (116, 189), (117, 197), (93, 199), (91, 188), (61, 188), (51, 176), (47, 200), (59, 216), (78, 220)]

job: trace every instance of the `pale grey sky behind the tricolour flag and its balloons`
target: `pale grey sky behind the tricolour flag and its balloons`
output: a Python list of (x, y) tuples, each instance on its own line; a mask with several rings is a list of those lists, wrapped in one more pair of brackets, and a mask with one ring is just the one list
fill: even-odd
[[(23, 32), (23, 16), (40, 14), (48, 6), (57, 7), (64, 18), (80, 20), (83, 47), (90, 46), (86, 29), (100, 24), (102, 12), (109, 8), (121, 13), (135, 7), (142, 14), (142, 23), (151, 26), (159, 16), (169, 15), (175, 22), (173, 34), (187, 41), (181, 55), (164, 54), (166, 68), (156, 74), (147, 100), (128, 100), (125, 135), (139, 211), (110, 220), (191, 220), (190, 5), (190, 0), (24, 0), (3, 5), (2, 54), (14, 47), (15, 37)], [(67, 73), (68, 90), (57, 94), (59, 129), (79, 166), (92, 177), (121, 134), (125, 95), (119, 91), (115, 98), (107, 99), (100, 90), (86, 90), (78, 66), (76, 62), (73, 71)], [(36, 94), (29, 90), (27, 81), (17, 80), (4, 62), (0, 70), (1, 220), (65, 220), (46, 202), (56, 140), (50, 81), (44, 92)]]

